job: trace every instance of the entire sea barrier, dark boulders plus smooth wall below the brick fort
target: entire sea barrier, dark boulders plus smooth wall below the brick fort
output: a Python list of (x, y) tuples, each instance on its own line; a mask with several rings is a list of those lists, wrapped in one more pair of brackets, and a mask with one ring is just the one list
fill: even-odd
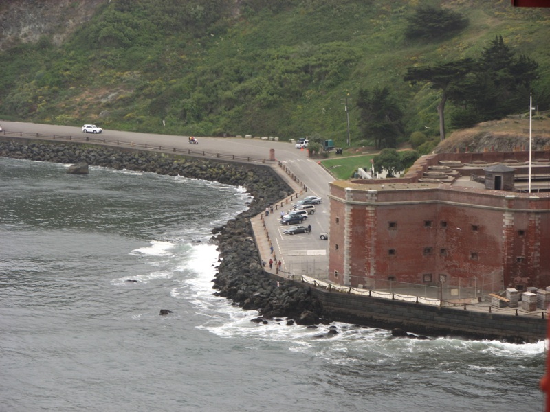
[(524, 342), (544, 339), (547, 321), (439, 308), (404, 301), (364, 297), (322, 288), (265, 273), (254, 244), (250, 218), (267, 205), (292, 192), (266, 165), (241, 165), (204, 161), (175, 155), (89, 144), (51, 144), (43, 141), (11, 141), (0, 137), (0, 156), (36, 161), (78, 163), (107, 168), (181, 175), (242, 185), (254, 201), (247, 211), (214, 229), (212, 241), (220, 253), (214, 294), (230, 299), (245, 310), (259, 310), (263, 323), (278, 317), (300, 324), (335, 321), (386, 329), (401, 328), (417, 334), (462, 336)]

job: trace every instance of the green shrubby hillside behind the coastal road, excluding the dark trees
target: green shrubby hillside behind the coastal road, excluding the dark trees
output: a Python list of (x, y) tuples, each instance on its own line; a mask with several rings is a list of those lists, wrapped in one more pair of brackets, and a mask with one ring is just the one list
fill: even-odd
[(358, 90), (389, 85), (405, 113), (402, 139), (437, 136), (439, 93), (404, 82), (406, 68), (476, 57), (496, 35), (538, 61), (536, 89), (550, 89), (550, 9), (437, 1), (466, 16), (467, 28), (408, 41), (419, 3), (113, 0), (61, 47), (43, 37), (0, 54), (0, 116), (181, 135), (318, 135), (343, 146), (348, 100), (351, 141), (361, 145), (369, 136), (358, 125)]

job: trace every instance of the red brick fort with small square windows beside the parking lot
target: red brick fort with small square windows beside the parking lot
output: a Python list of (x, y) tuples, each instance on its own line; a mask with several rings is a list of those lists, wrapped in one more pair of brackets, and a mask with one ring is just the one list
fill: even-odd
[[(334, 181), (329, 279), (550, 286), (550, 152), (421, 157), (398, 179)], [(483, 286), (482, 286), (483, 285)]]

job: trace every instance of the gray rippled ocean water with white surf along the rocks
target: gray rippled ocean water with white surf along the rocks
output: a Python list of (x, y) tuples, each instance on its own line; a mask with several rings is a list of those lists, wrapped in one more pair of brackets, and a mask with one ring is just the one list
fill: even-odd
[(1, 412), (544, 409), (544, 342), (316, 339), (214, 297), (242, 188), (67, 166), (0, 157)]

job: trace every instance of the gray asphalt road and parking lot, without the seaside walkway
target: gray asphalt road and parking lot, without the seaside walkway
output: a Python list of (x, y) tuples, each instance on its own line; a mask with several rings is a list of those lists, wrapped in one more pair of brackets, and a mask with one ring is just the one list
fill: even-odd
[[(6, 132), (41, 133), (46, 135), (62, 135), (82, 137), (80, 127), (52, 126), (20, 122), (1, 122)], [(234, 137), (197, 137), (198, 145), (190, 145), (187, 136), (155, 135), (150, 133), (133, 133), (117, 130), (104, 130), (101, 135), (108, 140), (132, 141), (135, 144), (150, 146), (175, 147), (187, 150), (205, 150), (221, 155), (238, 155), (255, 159), (269, 159), (270, 150), (275, 150), (275, 158), (292, 170), (307, 186), (307, 193), (301, 197), (315, 194), (323, 198), (323, 203), (317, 206), (316, 214), (310, 215), (305, 224), (311, 224), (312, 233), (294, 236), (284, 235), (283, 227), (278, 224), (281, 209), (277, 209), (265, 222), (274, 246), (274, 253), (283, 259), (283, 270), (292, 271), (295, 275), (316, 275), (321, 279), (327, 276), (326, 240), (320, 240), (319, 234), (328, 230), (329, 225), (329, 183), (334, 180), (317, 161), (307, 157), (307, 151), (299, 150), (294, 145), (283, 141), (261, 139), (243, 139)], [(285, 211), (290, 205), (285, 205)]]

